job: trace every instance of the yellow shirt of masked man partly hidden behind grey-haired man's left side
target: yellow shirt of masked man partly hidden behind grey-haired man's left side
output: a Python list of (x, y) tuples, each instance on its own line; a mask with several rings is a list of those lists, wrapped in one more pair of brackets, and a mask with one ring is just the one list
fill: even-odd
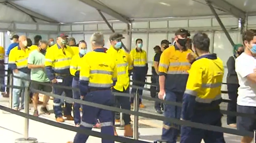
[(80, 64), (82, 62), (82, 57), (83, 55), (78, 53), (78, 54), (75, 54), (71, 60), (69, 70), (70, 70), (70, 74), (75, 77), (79, 77)]

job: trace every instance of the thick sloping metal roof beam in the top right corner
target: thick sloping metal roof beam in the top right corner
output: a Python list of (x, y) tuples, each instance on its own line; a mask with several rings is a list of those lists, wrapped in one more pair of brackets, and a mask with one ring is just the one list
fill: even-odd
[(246, 12), (242, 11), (241, 9), (229, 4), (225, 0), (205, 0), (206, 3), (211, 3), (212, 5), (220, 8), (221, 10), (232, 14), (234, 17), (237, 18), (246, 18)]

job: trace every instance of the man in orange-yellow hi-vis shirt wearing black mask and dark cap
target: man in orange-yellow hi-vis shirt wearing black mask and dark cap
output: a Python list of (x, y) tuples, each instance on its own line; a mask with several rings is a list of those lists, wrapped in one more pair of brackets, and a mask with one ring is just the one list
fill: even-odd
[[(171, 102), (182, 102), (182, 96), (185, 92), (190, 63), (186, 59), (188, 53), (192, 50), (186, 48), (188, 31), (180, 29), (175, 33), (176, 43), (165, 49), (159, 62), (159, 85), (160, 91), (158, 97)], [(180, 119), (181, 107), (173, 105), (164, 105), (164, 116), (167, 118)], [(162, 139), (168, 140), (168, 143), (176, 143), (180, 127), (170, 122), (163, 122)]]

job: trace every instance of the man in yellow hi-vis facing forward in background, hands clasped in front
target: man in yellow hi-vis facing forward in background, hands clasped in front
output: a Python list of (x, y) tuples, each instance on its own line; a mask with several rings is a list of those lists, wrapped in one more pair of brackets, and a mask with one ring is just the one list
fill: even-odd
[[(136, 85), (138, 87), (143, 88), (144, 87), (144, 82), (146, 79), (146, 74), (148, 70), (148, 65), (147, 65), (147, 56), (146, 56), (146, 51), (142, 49), (143, 47), (143, 41), (142, 39), (136, 39), (136, 48), (132, 49), (130, 52), (131, 59), (133, 60), (133, 85)], [(132, 94), (135, 94), (137, 91), (138, 95), (140, 96), (139, 98), (139, 107), (144, 108), (144, 105), (142, 104), (142, 89), (136, 89), (132, 88)], [(131, 98), (131, 107), (133, 107), (133, 101), (134, 98)]]

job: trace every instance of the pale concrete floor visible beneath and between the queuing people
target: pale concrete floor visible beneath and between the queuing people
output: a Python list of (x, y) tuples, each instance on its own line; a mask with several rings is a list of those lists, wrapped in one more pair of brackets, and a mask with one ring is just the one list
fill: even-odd
[[(147, 95), (147, 94), (146, 94)], [(0, 105), (8, 106), (8, 98), (0, 98)], [(140, 109), (141, 112), (151, 113), (158, 115), (154, 110), (154, 103), (151, 101), (144, 100), (144, 109)], [(33, 113), (33, 107), (30, 105), (30, 113)], [(226, 109), (226, 104), (222, 104), (222, 109)], [(49, 109), (52, 109), (52, 101), (49, 102)], [(0, 111), (1, 122), (0, 122), (0, 142), (13, 143), (16, 138), (23, 137), (24, 134), (24, 118), (12, 115), (10, 113)], [(54, 115), (41, 115), (40, 118), (45, 118), (54, 121)], [(132, 116), (132, 119), (134, 117)], [(162, 132), (162, 121), (152, 120), (140, 117), (139, 118), (139, 132), (140, 139), (153, 142), (154, 140), (161, 138)], [(73, 121), (67, 121), (65, 124), (73, 125)], [(223, 127), (226, 125), (226, 116), (222, 119)], [(99, 131), (99, 129), (93, 129)], [(123, 130), (117, 130), (119, 135), (123, 134)], [(29, 136), (35, 137), (40, 143), (66, 143), (72, 141), (75, 132), (53, 127), (47, 124), (42, 124), (35, 121), (29, 123)], [(225, 140), (227, 143), (238, 143), (240, 142), (240, 136), (225, 134)], [(101, 142), (100, 138), (89, 137), (87, 142)], [(204, 141), (202, 141), (204, 142)]]

